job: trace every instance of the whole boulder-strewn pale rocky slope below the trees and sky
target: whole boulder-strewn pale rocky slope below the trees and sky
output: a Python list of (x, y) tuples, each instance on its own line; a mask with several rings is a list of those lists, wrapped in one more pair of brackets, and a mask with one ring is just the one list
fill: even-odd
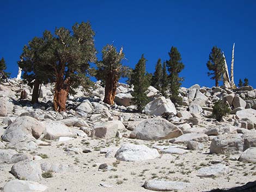
[[(31, 106), (32, 90), (21, 80), (0, 84), (2, 191), (209, 191), (256, 180), (251, 86), (181, 88), (177, 108), (150, 86), (151, 102), (139, 114), (128, 85), (118, 84), (114, 106), (95, 85), (77, 89), (68, 110), (56, 113), (52, 85)], [(218, 100), (231, 108), (223, 122), (211, 118)]]

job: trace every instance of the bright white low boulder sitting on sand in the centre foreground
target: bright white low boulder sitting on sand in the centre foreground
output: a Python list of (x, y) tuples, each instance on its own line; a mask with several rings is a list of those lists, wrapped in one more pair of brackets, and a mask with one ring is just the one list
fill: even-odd
[(135, 144), (124, 144), (115, 153), (117, 160), (123, 160), (125, 162), (155, 159), (159, 156), (160, 154), (155, 148)]

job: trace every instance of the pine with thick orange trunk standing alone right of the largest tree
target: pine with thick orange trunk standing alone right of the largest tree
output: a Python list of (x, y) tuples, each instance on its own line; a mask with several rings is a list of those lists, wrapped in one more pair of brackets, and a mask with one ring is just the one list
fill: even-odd
[(107, 104), (114, 104), (118, 80), (122, 76), (125, 76), (124, 71), (126, 70), (121, 64), (123, 59), (124, 53), (122, 48), (120, 52), (117, 52), (117, 49), (113, 45), (106, 45), (102, 49), (102, 60), (96, 63), (96, 78), (105, 84), (103, 102)]

